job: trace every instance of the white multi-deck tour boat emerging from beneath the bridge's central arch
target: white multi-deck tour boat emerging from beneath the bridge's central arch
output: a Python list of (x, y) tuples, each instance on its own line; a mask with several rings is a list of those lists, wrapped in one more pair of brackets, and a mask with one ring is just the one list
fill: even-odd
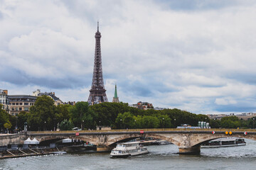
[(117, 147), (112, 149), (110, 156), (112, 158), (117, 157), (129, 157), (137, 156), (139, 154), (148, 154), (149, 151), (146, 147), (143, 147), (139, 142), (125, 142), (117, 144)]

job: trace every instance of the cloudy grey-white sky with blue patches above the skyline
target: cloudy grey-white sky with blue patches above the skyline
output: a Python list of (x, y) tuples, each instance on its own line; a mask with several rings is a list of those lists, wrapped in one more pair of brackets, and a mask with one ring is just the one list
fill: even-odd
[(0, 0), (0, 89), (87, 101), (97, 20), (109, 101), (256, 112), (250, 0)]

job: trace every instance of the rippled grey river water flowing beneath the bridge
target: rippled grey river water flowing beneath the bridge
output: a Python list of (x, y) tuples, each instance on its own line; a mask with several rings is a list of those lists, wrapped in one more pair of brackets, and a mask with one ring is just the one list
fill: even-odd
[(148, 146), (150, 154), (110, 159), (107, 153), (62, 154), (0, 160), (0, 169), (256, 169), (256, 141), (246, 146), (201, 149), (200, 155), (179, 155), (175, 145)]

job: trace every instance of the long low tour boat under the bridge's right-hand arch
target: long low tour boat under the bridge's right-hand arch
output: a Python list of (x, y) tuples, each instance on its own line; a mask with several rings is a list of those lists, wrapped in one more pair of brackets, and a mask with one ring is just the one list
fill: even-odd
[(235, 147), (242, 145), (246, 145), (244, 139), (239, 137), (226, 137), (216, 140), (210, 140), (206, 144), (201, 145), (201, 147)]

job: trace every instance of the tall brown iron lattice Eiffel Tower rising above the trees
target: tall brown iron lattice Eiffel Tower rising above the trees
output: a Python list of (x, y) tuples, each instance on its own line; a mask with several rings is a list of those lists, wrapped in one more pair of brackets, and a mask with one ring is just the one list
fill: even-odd
[(95, 33), (95, 62), (92, 76), (92, 88), (90, 89), (90, 96), (88, 98), (88, 103), (91, 105), (96, 103), (108, 102), (106, 90), (103, 82), (102, 75), (102, 59), (100, 50), (100, 31), (99, 31), (99, 21), (97, 22), (97, 32)]

